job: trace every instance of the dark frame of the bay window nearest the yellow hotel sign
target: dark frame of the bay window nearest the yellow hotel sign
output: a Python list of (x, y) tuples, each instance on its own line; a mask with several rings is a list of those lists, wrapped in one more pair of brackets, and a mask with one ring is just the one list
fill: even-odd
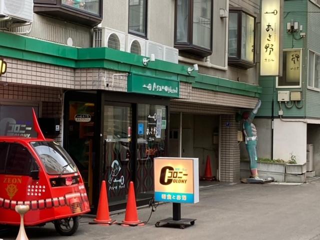
[[(236, 56), (229, 56), (228, 53), (228, 65), (248, 69), (255, 66), (255, 50), (256, 50), (256, 16), (249, 11), (243, 9), (242, 7), (230, 7), (229, 13), (237, 13), (237, 43), (236, 43)], [(242, 14), (249, 15), (253, 17), (253, 62), (242, 59), (241, 57), (241, 40), (242, 40)], [(229, 21), (229, 18), (228, 18)], [(229, 23), (228, 23), (228, 31), (229, 31)], [(229, 35), (228, 35), (229, 41)]]

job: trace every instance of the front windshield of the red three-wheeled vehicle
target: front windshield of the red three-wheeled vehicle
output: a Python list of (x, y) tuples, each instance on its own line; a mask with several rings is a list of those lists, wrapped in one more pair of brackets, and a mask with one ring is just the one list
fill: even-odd
[(33, 141), (32, 147), (39, 155), (48, 174), (74, 173), (77, 168), (69, 154), (54, 141)]

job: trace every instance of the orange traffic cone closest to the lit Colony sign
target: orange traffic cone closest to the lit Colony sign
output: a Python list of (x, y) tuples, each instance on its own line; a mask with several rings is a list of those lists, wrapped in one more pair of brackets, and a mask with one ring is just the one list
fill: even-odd
[(144, 225), (144, 222), (138, 219), (138, 213), (135, 204), (134, 186), (132, 181), (130, 181), (129, 184), (128, 201), (126, 203), (124, 220), (118, 222), (118, 224), (121, 224), (122, 226)]

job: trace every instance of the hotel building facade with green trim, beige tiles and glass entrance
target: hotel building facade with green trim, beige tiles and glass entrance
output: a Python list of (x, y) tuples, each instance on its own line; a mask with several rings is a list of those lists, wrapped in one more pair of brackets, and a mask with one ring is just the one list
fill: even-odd
[(130, 180), (145, 203), (156, 156), (199, 157), (199, 175), (210, 159), (215, 179), (239, 180), (235, 114), (261, 93), (259, 0), (34, 0), (32, 19), (7, 15), (0, 120), (24, 124), (36, 108), (93, 209), (101, 180), (111, 210), (125, 206)]

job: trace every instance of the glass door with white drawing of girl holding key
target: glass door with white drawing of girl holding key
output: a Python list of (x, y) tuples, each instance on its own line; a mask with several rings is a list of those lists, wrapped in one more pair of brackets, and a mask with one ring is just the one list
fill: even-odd
[(131, 105), (104, 105), (104, 180), (110, 205), (125, 202), (132, 172)]

